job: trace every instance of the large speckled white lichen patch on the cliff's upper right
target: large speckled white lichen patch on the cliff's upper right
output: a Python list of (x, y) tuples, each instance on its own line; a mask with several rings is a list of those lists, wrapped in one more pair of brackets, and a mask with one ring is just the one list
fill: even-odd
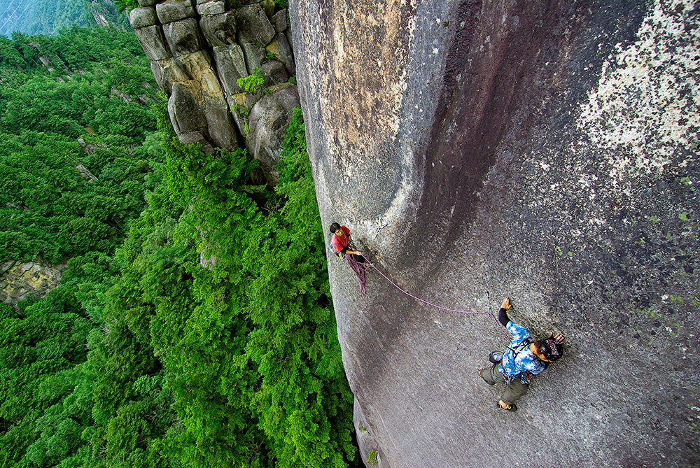
[(700, 29), (694, 1), (656, 0), (631, 45), (617, 45), (578, 128), (607, 155), (613, 183), (661, 173), (698, 139)]

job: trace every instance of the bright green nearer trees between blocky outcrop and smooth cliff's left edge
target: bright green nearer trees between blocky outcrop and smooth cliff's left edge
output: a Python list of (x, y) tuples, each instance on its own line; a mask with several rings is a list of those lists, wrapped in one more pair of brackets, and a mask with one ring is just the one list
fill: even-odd
[[(175, 141), (163, 132), (165, 141)], [(226, 441), (217, 444), (217, 466), (267, 466), (274, 459), (279, 467), (344, 467), (354, 457), (352, 399), (328, 306), (300, 109), (288, 132), (275, 192), (245, 185), (256, 166), (245, 152), (212, 158), (174, 143), (170, 149), (172, 198), (188, 207), (176, 239), (197, 243), (214, 266), (191, 269), (195, 303), (181, 341), (160, 339), (157, 346), (165, 352), (166, 369), (188, 383), (175, 394), (180, 407), (206, 404), (222, 416), (226, 406), (249, 411), (270, 451), (250, 460), (255, 452), (248, 448), (247, 458), (239, 459), (237, 451), (221, 450)], [(157, 339), (159, 330), (183, 319), (156, 314), (151, 324), (158, 329), (151, 335)], [(193, 362), (211, 362), (207, 374)], [(200, 394), (193, 387), (206, 390)], [(207, 432), (197, 430), (201, 418), (181, 414), (198, 446), (229, 432), (228, 416), (210, 420)]]

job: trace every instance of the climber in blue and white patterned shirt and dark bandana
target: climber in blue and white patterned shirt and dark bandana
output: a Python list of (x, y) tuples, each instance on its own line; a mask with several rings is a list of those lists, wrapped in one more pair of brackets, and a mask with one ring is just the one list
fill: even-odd
[(515, 402), (525, 395), (530, 376), (540, 374), (549, 362), (554, 362), (563, 355), (564, 337), (561, 334), (549, 334), (547, 339), (533, 341), (528, 329), (508, 318), (506, 311), (510, 307), (510, 298), (506, 297), (498, 311), (498, 321), (513, 334), (510, 346), (503, 353), (500, 362), (479, 370), (479, 376), (489, 385), (504, 383), (506, 389), (498, 400), (498, 406), (507, 411), (517, 411)]

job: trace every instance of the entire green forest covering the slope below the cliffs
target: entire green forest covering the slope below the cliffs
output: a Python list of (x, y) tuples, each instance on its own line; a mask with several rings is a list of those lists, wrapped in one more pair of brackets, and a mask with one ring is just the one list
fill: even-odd
[(0, 38), (1, 260), (67, 262), (0, 305), (0, 466), (359, 466), (300, 109), (252, 185), (179, 143), (134, 43)]

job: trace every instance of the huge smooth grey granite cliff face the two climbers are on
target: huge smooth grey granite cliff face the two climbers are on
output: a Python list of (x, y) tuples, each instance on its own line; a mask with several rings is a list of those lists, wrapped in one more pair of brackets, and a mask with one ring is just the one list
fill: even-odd
[[(374, 270), (360, 296), (329, 253), (363, 460), (700, 465), (697, 11), (290, 3), (324, 230), (466, 312)], [(505, 295), (567, 340), (516, 413), (476, 373), (507, 344)]]

